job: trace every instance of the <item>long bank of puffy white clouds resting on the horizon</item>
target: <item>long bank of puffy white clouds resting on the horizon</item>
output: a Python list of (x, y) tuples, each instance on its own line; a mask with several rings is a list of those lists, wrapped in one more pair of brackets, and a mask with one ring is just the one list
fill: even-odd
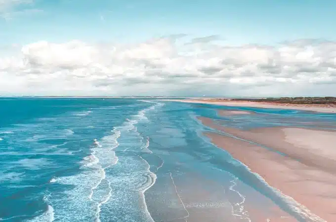
[[(139, 44), (25, 45), (0, 57), (0, 93), (37, 95), (334, 95), (336, 42), (214, 45), (213, 37)], [(201, 39), (201, 41), (200, 41)], [(203, 41), (204, 39), (208, 39)]]

